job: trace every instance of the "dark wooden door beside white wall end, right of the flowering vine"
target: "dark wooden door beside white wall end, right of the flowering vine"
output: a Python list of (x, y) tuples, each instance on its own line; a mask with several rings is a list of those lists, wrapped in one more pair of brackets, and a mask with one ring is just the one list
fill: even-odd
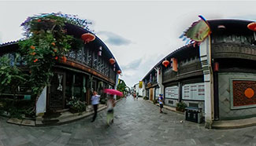
[(65, 72), (54, 72), (48, 89), (47, 108), (50, 111), (65, 108)]

